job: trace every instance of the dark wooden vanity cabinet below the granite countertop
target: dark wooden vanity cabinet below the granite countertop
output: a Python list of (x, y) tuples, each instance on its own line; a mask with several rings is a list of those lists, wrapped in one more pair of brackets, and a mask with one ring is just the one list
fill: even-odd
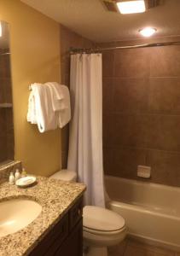
[(80, 198), (29, 256), (82, 256), (83, 204)]

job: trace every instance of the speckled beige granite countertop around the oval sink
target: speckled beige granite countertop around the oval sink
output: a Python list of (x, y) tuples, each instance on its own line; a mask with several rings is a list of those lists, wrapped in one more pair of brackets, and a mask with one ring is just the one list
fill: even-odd
[(33, 187), (20, 189), (4, 182), (0, 184), (0, 202), (7, 199), (26, 198), (38, 201), (42, 212), (26, 228), (0, 237), (0, 256), (25, 256), (41, 241), (62, 218), (78, 198), (83, 195), (84, 184), (38, 177)]

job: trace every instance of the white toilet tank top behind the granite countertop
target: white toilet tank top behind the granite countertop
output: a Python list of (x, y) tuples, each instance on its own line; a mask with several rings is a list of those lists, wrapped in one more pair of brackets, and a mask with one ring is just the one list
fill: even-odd
[(53, 175), (50, 176), (50, 178), (61, 179), (63, 181), (73, 183), (76, 182), (77, 174), (76, 172), (67, 169), (62, 169), (58, 172), (55, 172)]

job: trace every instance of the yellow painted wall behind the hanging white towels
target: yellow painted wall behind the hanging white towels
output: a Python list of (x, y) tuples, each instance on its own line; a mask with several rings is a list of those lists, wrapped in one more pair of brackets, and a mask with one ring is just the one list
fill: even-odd
[(61, 167), (61, 131), (40, 134), (26, 112), (29, 84), (60, 82), (60, 27), (20, 0), (0, 0), (0, 20), (10, 28), (15, 160), (27, 172), (49, 176)]

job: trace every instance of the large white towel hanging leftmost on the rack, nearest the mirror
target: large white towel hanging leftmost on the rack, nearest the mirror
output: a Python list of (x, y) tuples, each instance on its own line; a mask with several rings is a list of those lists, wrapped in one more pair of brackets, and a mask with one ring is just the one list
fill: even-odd
[(27, 121), (32, 124), (37, 123), (40, 132), (55, 130), (58, 127), (58, 117), (52, 107), (48, 86), (32, 84), (31, 87)]

